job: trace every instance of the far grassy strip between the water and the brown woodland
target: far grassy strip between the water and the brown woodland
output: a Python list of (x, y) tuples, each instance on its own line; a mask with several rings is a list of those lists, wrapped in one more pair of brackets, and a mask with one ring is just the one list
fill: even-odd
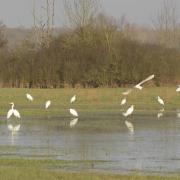
[[(176, 87), (148, 87), (142, 91), (134, 90), (128, 96), (128, 103), (135, 105), (136, 110), (153, 111), (161, 106), (157, 103), (157, 95), (165, 101), (165, 109), (173, 111), (180, 108), (180, 93), (175, 91)], [(113, 112), (121, 109), (120, 101), (123, 88), (100, 88), (100, 89), (0, 89), (0, 115), (5, 116), (10, 108), (9, 102), (14, 102), (15, 107), (23, 116), (41, 117), (44, 115), (68, 116), (69, 108), (74, 107), (80, 114), (92, 112)], [(33, 102), (28, 102), (25, 93), (31, 93)], [(71, 105), (70, 98), (77, 94), (77, 101)], [(52, 106), (46, 112), (44, 103), (52, 100)]]

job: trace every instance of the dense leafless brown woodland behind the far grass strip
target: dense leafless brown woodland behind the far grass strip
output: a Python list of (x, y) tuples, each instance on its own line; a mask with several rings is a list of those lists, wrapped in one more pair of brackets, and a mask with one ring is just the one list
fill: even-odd
[[(134, 25), (123, 18), (118, 21), (97, 10), (94, 13), (95, 1), (87, 0), (88, 6), (75, 1), (88, 13), (66, 2), (71, 25), (56, 35), (47, 21), (45, 27), (35, 25), (20, 44), (10, 48), (6, 27), (1, 25), (1, 87), (124, 87), (151, 74), (155, 74), (154, 86), (180, 82), (180, 27), (167, 22), (164, 26), (163, 11), (151, 29), (153, 38), (140, 40)], [(73, 8), (81, 13), (79, 19), (76, 14), (70, 16)]]

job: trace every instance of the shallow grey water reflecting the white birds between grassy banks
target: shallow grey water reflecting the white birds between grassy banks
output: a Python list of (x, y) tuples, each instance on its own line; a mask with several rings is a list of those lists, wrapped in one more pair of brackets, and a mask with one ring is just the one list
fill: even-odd
[[(114, 173), (178, 173), (180, 170), (180, 119), (167, 114), (132, 115), (131, 133), (121, 114), (93, 114), (80, 117), (70, 127), (70, 117), (22, 120), (2, 119), (0, 156), (91, 161), (91, 166), (67, 170)], [(12, 133), (7, 126), (20, 124)]]

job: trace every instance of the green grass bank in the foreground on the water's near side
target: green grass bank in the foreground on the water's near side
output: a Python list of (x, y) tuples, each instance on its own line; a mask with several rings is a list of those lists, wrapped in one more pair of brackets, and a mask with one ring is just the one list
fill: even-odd
[[(25, 159), (1, 159), (1, 180), (178, 180), (179, 176), (145, 176), (138, 174), (117, 175), (95, 172), (65, 172), (58, 169), (52, 170), (52, 166), (67, 166), (71, 161), (57, 160), (25, 160)], [(90, 162), (87, 162), (90, 163)]]

